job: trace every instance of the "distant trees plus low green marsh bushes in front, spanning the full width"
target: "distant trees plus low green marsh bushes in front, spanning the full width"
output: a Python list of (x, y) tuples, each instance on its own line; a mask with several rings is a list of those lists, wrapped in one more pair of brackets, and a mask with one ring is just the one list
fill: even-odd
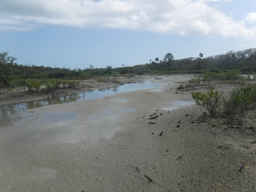
[[(189, 81), (189, 86), (207, 84), (212, 81), (220, 83), (236, 83), (250, 85), (251, 76), (255, 74), (256, 48), (244, 51), (229, 51), (225, 54), (203, 58), (198, 57), (174, 59), (171, 53), (164, 55), (161, 60), (150, 59), (150, 63), (118, 68), (107, 66), (95, 68), (93, 65), (86, 69), (52, 68), (35, 65), (18, 65), (16, 58), (9, 56), (8, 52), (0, 52), (0, 88), (13, 89), (14, 87), (27, 87), (28, 91), (53, 91), (61, 87), (74, 87), (81, 79), (96, 79), (95, 81), (116, 81), (119, 76), (132, 76), (143, 74), (196, 74)], [(256, 76), (254, 75), (255, 79)], [(181, 85), (182, 87), (183, 85)], [(235, 94), (235, 93), (234, 93)], [(228, 102), (228, 101), (227, 101)], [(231, 101), (230, 101), (231, 102)]]

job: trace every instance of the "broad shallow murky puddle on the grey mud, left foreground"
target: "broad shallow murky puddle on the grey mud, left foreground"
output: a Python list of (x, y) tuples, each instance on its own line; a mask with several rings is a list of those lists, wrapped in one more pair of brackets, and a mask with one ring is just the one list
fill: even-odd
[[(113, 137), (122, 126), (117, 125), (120, 114), (114, 109), (86, 118), (83, 124), (74, 124), (77, 113), (26, 112), (12, 129), (1, 132), (0, 175), (4, 167), (19, 163), (30, 151), (58, 143), (76, 143), (86, 147), (98, 145)], [(11, 161), (10, 161), (11, 159)]]

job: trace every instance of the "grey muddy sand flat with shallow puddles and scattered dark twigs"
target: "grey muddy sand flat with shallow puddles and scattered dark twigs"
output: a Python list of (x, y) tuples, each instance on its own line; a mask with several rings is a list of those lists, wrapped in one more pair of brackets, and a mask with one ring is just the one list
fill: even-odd
[(18, 113), (28, 118), (1, 128), (0, 191), (255, 191), (256, 114), (179, 106), (194, 102), (176, 89), (190, 78), (143, 76), (163, 85)]

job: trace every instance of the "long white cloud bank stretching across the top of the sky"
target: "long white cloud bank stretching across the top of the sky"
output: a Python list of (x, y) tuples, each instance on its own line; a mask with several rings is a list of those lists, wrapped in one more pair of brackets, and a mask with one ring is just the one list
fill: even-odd
[(62, 25), (180, 35), (255, 36), (256, 29), (246, 28), (245, 21), (254, 22), (256, 13), (235, 21), (205, 3), (213, 1), (221, 0), (1, 0), (0, 30)]

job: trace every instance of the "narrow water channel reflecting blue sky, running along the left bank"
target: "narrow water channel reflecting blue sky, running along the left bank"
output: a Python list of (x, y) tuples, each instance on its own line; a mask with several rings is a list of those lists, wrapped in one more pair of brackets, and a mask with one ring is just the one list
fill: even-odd
[(18, 121), (20, 117), (15, 116), (15, 113), (44, 107), (47, 105), (56, 105), (61, 103), (73, 103), (84, 100), (100, 99), (103, 97), (111, 96), (116, 93), (124, 93), (130, 91), (137, 91), (142, 89), (151, 89), (163, 85), (162, 83), (154, 82), (137, 82), (131, 84), (124, 84), (116, 87), (108, 87), (106, 89), (94, 90), (90, 92), (66, 95), (58, 98), (51, 98), (39, 101), (22, 102), (9, 105), (0, 106), (0, 128), (12, 126), (13, 122)]

